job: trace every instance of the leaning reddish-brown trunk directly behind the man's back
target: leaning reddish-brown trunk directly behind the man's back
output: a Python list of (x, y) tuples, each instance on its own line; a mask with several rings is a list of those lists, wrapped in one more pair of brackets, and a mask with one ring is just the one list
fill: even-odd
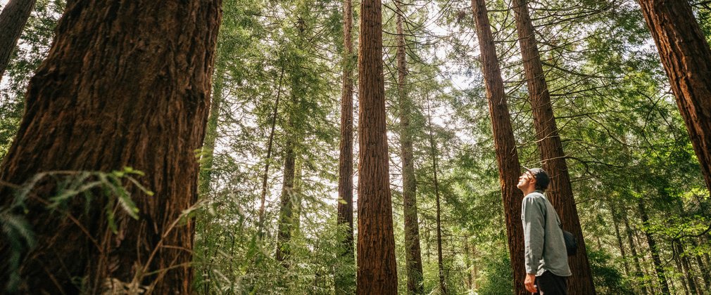
[(533, 125), (538, 139), (538, 150), (540, 150), (543, 167), (551, 177), (547, 196), (550, 196), (550, 202), (560, 216), (563, 226), (577, 238), (580, 248), (577, 255), (568, 257), (572, 271), (572, 277), (568, 280), (568, 291), (571, 294), (595, 294), (592, 272), (590, 272), (585, 250), (585, 240), (570, 187), (570, 175), (565, 163), (565, 154), (560, 143), (558, 129), (555, 126), (550, 94), (540, 61), (533, 23), (528, 13), (527, 1), (514, 0), (513, 11), (518, 29), (523, 67), (528, 82), (528, 94), (533, 109)]

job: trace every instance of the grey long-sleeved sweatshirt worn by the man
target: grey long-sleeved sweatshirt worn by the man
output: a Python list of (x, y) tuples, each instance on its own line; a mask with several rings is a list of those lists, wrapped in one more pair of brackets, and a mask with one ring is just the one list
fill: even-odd
[(541, 191), (523, 198), (521, 219), (526, 273), (540, 276), (547, 270), (560, 277), (570, 277), (560, 218)]

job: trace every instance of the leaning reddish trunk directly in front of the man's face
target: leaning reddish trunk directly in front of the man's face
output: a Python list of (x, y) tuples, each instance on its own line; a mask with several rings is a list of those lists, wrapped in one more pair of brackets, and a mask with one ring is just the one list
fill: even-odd
[(479, 37), (481, 51), (481, 67), (486, 84), (489, 117), (493, 131), (494, 150), (498, 164), (499, 182), (501, 183), (501, 199), (503, 200), (504, 216), (506, 218), (506, 233), (508, 235), (508, 255), (513, 270), (513, 286), (515, 294), (528, 294), (523, 279), (525, 274), (523, 253), (523, 225), (520, 221), (523, 192), (516, 187), (520, 175), (518, 152), (513, 138), (511, 116), (508, 113), (506, 92), (503, 89), (501, 69), (496, 55), (491, 25), (486, 10), (485, 0), (472, 0), (476, 22), (476, 35)]

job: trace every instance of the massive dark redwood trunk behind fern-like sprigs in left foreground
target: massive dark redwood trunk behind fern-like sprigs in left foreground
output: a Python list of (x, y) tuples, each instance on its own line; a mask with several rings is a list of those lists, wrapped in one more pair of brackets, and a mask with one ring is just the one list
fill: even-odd
[[(128, 186), (140, 218), (117, 210), (114, 235), (102, 191), (90, 203), (77, 196), (66, 211), (51, 212), (44, 204), (58, 193), (56, 183), (40, 182), (26, 211), (17, 212), (37, 235), (20, 266), (21, 293), (77, 294), (81, 287), (97, 294), (109, 279), (132, 282), (142, 274), (138, 283), (154, 284), (154, 294), (191, 292), (193, 221), (171, 225), (197, 199), (195, 150), (208, 118), (220, 6), (220, 0), (70, 1), (29, 84), (0, 179), (23, 184), (38, 172), (133, 167), (155, 194)], [(0, 198), (8, 206), (14, 194), (4, 187)], [(0, 239), (3, 264), (8, 252)]]

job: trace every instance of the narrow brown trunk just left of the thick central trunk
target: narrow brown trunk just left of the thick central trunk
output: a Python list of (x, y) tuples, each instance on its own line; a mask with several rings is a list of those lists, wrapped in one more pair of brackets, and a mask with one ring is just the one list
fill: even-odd
[[(343, 86), (341, 88), (341, 146), (338, 159), (339, 228), (346, 226), (341, 256), (355, 263), (353, 256), (353, 4), (343, 0)], [(353, 294), (355, 276), (336, 270), (336, 294)]]

